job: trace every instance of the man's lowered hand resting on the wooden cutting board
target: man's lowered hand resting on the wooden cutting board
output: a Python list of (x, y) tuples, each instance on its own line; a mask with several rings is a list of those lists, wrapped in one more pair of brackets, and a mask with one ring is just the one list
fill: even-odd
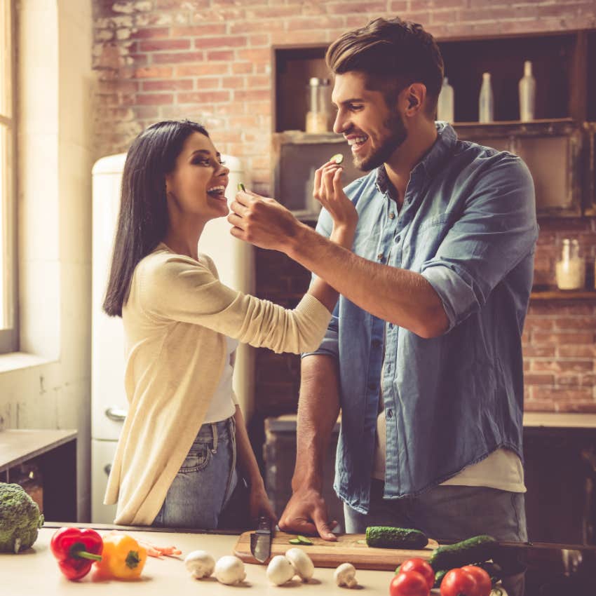
[(327, 521), (327, 506), (323, 495), (316, 489), (299, 489), (285, 506), (279, 520), (283, 531), (294, 534), (318, 534), (321, 538), (336, 541), (332, 529), (337, 521)]

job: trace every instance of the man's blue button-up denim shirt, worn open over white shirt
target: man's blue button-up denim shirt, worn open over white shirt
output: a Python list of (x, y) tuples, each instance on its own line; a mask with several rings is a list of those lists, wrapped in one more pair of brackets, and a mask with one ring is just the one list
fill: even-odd
[[(449, 320), (445, 334), (423, 339), (341, 296), (313, 352), (339, 361), (334, 489), (360, 513), (370, 503), (379, 395), (387, 499), (420, 494), (499, 447), (522, 458), (521, 336), (538, 237), (534, 183), (519, 157), (457, 140), (446, 123), (437, 128), (399, 211), (384, 166), (345, 189), (359, 214), (354, 252), (421, 273)], [(323, 210), (317, 231), (328, 237), (331, 229)]]

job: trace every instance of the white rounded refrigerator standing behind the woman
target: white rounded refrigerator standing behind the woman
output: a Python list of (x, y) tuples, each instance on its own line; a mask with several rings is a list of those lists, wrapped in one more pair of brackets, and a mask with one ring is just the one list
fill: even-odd
[[(226, 196), (236, 194), (238, 182), (250, 187), (250, 179), (238, 158), (222, 156), (230, 168)], [(93, 290), (91, 350), (91, 522), (109, 524), (116, 506), (103, 504), (111, 462), (126, 416), (124, 393), (124, 340), (122, 320), (102, 311), (111, 261), (116, 218), (120, 203), (122, 170), (126, 154), (111, 155), (93, 166)], [(199, 252), (215, 261), (223, 283), (254, 293), (254, 251), (229, 233), (225, 217), (205, 226)], [(247, 420), (252, 413), (254, 353), (250, 346), (238, 346), (233, 388)]]

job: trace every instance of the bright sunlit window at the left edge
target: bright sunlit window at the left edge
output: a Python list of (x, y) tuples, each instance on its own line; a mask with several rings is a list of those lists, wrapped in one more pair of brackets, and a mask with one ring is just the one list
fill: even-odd
[(13, 1), (0, 2), (0, 353), (17, 351)]

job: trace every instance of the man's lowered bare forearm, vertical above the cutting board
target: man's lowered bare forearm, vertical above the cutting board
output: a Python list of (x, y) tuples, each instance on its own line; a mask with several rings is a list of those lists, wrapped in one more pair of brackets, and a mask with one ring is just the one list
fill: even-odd
[(332, 356), (310, 355), (302, 359), (298, 402), (296, 468), (292, 490), (320, 490), (323, 461), (339, 414), (339, 372)]

